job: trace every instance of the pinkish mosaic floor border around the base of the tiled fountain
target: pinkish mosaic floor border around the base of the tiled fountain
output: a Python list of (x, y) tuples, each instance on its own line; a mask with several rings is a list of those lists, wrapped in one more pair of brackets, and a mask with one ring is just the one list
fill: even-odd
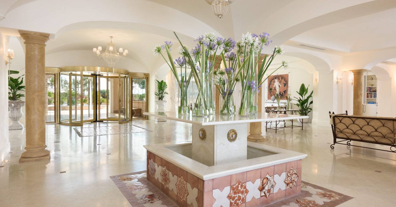
[[(158, 206), (175, 207), (177, 206), (171, 199), (164, 195), (158, 188), (146, 179), (146, 171), (132, 172), (110, 176), (118, 189), (124, 194), (125, 198), (131, 203), (132, 207)], [(238, 184), (241, 185), (240, 181)], [(234, 187), (235, 188), (235, 187)], [(241, 188), (242, 189), (242, 188)], [(235, 190), (235, 189), (234, 189)], [(230, 194), (232, 194), (230, 188)], [(276, 192), (274, 192), (276, 193)], [(301, 194), (289, 197), (282, 201), (272, 203), (271, 207), (335, 207), (353, 197), (344, 195), (332, 190), (316, 186), (309, 182), (302, 181)], [(234, 203), (239, 206), (239, 203)]]

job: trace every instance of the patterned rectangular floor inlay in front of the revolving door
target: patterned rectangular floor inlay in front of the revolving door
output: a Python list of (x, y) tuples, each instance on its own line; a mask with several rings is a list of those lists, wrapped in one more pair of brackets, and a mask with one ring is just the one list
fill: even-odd
[(137, 132), (151, 132), (146, 128), (136, 125), (118, 125), (118, 126), (97, 126), (97, 127), (75, 127), (73, 128), (79, 137), (83, 136), (101, 136), (109, 134), (128, 134)]

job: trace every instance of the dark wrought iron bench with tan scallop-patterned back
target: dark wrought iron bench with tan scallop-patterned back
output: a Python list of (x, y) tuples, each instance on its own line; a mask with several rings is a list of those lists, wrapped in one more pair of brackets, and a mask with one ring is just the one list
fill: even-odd
[[(390, 150), (381, 151), (396, 152), (396, 119), (390, 117), (364, 117), (346, 114), (330, 113), (331, 130), (333, 131), (333, 144), (355, 146), (368, 149), (364, 146), (352, 145), (351, 141), (366, 142), (372, 144), (390, 146)], [(340, 141), (337, 141), (340, 140)], [(344, 143), (346, 141), (346, 143)]]

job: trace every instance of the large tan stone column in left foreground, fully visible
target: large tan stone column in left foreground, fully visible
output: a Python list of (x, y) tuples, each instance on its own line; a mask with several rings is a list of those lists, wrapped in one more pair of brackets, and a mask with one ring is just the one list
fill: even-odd
[(45, 126), (45, 47), (49, 34), (19, 31), (25, 40), (26, 151), (19, 162), (49, 160)]

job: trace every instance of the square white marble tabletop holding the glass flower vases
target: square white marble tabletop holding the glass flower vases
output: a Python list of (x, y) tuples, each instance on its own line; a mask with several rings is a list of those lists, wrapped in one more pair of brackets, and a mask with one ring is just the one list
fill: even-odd
[(209, 125), (225, 125), (225, 124), (236, 124), (236, 123), (251, 123), (251, 122), (262, 122), (262, 121), (279, 121), (279, 120), (291, 120), (291, 119), (308, 119), (308, 116), (301, 115), (290, 115), (290, 114), (278, 114), (278, 113), (259, 113), (257, 116), (240, 117), (238, 115), (209, 115), (208, 117), (193, 117), (192, 115), (180, 116), (177, 113), (165, 112), (165, 115), (159, 115), (158, 113), (143, 113), (144, 115), (160, 117), (164, 119), (181, 121), (191, 123), (195, 125), (209, 126)]

